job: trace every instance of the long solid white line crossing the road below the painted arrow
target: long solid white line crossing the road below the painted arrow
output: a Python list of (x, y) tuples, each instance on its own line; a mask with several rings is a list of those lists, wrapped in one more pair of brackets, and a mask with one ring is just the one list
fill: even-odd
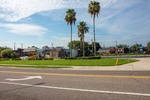
[(136, 96), (150, 96), (150, 94), (144, 93), (132, 93), (132, 92), (116, 92), (116, 91), (101, 91), (101, 90), (88, 90), (88, 89), (77, 89), (77, 88), (64, 88), (64, 87), (53, 87), (53, 86), (43, 86), (43, 85), (32, 85), (32, 84), (22, 84), (22, 83), (12, 83), (12, 82), (1, 82), (3, 84), (12, 84), (12, 85), (23, 85), (23, 86), (32, 86), (32, 87), (41, 87), (49, 89), (61, 89), (61, 90), (72, 90), (72, 91), (82, 91), (82, 92), (95, 92), (95, 93), (111, 93), (111, 94), (125, 94), (125, 95), (136, 95)]

